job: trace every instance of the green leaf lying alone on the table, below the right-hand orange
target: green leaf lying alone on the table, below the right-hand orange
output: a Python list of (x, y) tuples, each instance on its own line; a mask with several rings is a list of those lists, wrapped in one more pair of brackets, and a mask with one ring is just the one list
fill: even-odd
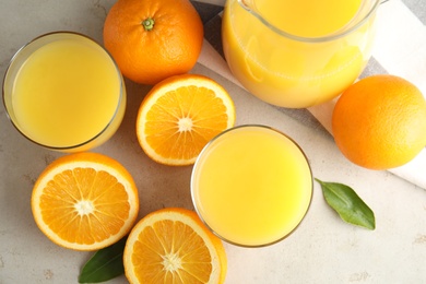
[(327, 203), (343, 221), (368, 229), (376, 228), (375, 213), (352, 188), (343, 184), (316, 180), (321, 185)]

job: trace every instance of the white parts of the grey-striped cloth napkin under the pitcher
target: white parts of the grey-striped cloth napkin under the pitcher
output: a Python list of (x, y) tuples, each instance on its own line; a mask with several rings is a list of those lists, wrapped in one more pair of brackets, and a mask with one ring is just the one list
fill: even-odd
[[(379, 7), (374, 58), (393, 75), (415, 84), (426, 95), (426, 27), (399, 0)], [(234, 78), (221, 55), (204, 40), (199, 63), (241, 86)], [(242, 87), (242, 86), (241, 86)], [(308, 108), (309, 113), (331, 132), (331, 115), (336, 99)], [(426, 189), (426, 149), (410, 163), (390, 173)]]

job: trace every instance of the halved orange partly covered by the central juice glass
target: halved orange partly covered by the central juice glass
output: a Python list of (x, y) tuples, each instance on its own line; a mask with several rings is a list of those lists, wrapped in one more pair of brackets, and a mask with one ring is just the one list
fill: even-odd
[(234, 102), (224, 87), (203, 75), (184, 74), (159, 82), (145, 96), (137, 135), (152, 159), (190, 165), (211, 139), (234, 123)]

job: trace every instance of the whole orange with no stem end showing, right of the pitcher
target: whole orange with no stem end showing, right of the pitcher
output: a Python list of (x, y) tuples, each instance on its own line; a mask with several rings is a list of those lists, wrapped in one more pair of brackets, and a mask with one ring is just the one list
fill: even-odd
[(343, 92), (332, 129), (353, 163), (370, 169), (402, 166), (426, 145), (426, 100), (402, 78), (368, 76)]

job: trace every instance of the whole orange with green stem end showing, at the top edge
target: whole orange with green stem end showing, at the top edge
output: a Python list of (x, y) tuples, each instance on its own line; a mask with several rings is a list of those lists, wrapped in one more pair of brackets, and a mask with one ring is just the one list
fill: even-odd
[(142, 84), (187, 73), (203, 43), (189, 0), (118, 0), (104, 24), (104, 45), (122, 74)]

